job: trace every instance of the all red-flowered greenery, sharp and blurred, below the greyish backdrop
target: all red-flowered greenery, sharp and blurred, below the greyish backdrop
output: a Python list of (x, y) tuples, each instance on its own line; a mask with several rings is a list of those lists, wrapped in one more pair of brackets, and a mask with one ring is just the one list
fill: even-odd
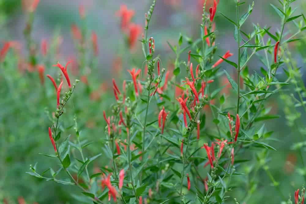
[[(0, 50), (2, 202), (303, 204), (306, 18), (301, 2), (276, 2), (279, 24), (250, 26), (256, 2), (199, 1), (200, 35), (171, 36), (170, 52), (151, 29), (161, 1), (144, 24), (122, 4), (125, 45), (101, 83), (108, 48), (86, 8), (67, 60), (60, 32), (33, 37), (39, 0), (22, 1), (25, 49)], [(219, 21), (234, 45), (219, 41)]]

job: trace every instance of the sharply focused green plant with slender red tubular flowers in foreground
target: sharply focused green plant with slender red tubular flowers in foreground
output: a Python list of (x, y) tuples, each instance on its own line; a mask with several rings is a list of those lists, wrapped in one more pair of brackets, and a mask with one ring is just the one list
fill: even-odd
[[(60, 166), (58, 171), (65, 172), (65, 177), (59, 179), (62, 176), (60, 174), (52, 175), (53, 178), (42, 176), (36, 171), (36, 167), (31, 168), (30, 174), (57, 183), (74, 185), (80, 188), (88, 202), (94, 203), (225, 203), (229, 196), (240, 195), (231, 188), (234, 182), (240, 185), (239, 191), (245, 190), (235, 176), (247, 173), (244, 172), (246, 168), (241, 168), (245, 167), (241, 163), (250, 162), (252, 165), (248, 166), (258, 167), (254, 171), (256, 175), (257, 171), (265, 170), (274, 187), (281, 191), (278, 182), (268, 171), (267, 151), (275, 148), (267, 139), (270, 132), (263, 121), (276, 117), (267, 113), (269, 108), (265, 108), (265, 101), (279, 91), (281, 85), (290, 81), (288, 78), (288, 81), (282, 82), (275, 76), (278, 68), (285, 63), (283, 57), (286, 57), (286, 44), (294, 42), (285, 35), (285, 24), (302, 17), (293, 17), (291, 11), (288, 12), (292, 1), (282, 2), (284, 9), (278, 14), (283, 16), (283, 23), (281, 32), (277, 32), (277, 35), (269, 32), (270, 28), (259, 25), (254, 25), (254, 31), (250, 34), (243, 31), (244, 22), (252, 14), (253, 4), (241, 15), (239, 9), (244, 8), (242, 6), (245, 3), (237, 1), (237, 19), (231, 20), (218, 13), (218, 7), (224, 4), (223, 1), (210, 1), (210, 8), (206, 8), (204, 3), (199, 38), (192, 40), (188, 36), (179, 35), (176, 45), (171, 44), (174, 40), (168, 43), (175, 56), (173, 68), (165, 65), (166, 56), (160, 52), (159, 47), (161, 41), (155, 38), (156, 32), (149, 30), (155, 3), (154, 0), (144, 15), (144, 26), (132, 22), (136, 13), (126, 5), (121, 5), (115, 13), (127, 42), (125, 58), (130, 59), (133, 53), (138, 52), (133, 49), (138, 47), (137, 43), (140, 41), (140, 52), (144, 53), (144, 59), (143, 66), (137, 62), (133, 62), (133, 65), (126, 62), (126, 69), (120, 70), (120, 75), (126, 77), (122, 81), (122, 88), (119, 75), (110, 78), (111, 87), (106, 87), (105, 90), (111, 90), (111, 97), (108, 97), (109, 93), (105, 93), (107, 97), (98, 102), (102, 104), (105, 99), (107, 103), (112, 100), (112, 104), (102, 110), (95, 110), (99, 113), (97, 120), (101, 121), (92, 122), (95, 120), (93, 117), (89, 120), (91, 123), (82, 126), (99, 128), (100, 135), (93, 142), (94, 145), (100, 145), (97, 149), (101, 152), (98, 154), (84, 156), (83, 148), (91, 143), (83, 138), (85, 131), (79, 130), (77, 117), (74, 117), (74, 128), (65, 127), (68, 121), (64, 122), (61, 117), (64, 113), (71, 113), (72, 108), (78, 114), (80, 108), (81, 97), (73, 100), (76, 104), (67, 105), (76, 87), (76, 83), (72, 84), (69, 77), (72, 70), (70, 66), (73, 64), (67, 69), (71, 61), (65, 67), (59, 62), (53, 65), (59, 68), (53, 69), (60, 74), (58, 79), (47, 67), (37, 66), (42, 85), (45, 72), (50, 73), (47, 77), (51, 83), (49, 81), (46, 86), (53, 86), (50, 95), (54, 93), (54, 109), (56, 95), (56, 109), (50, 116), (53, 124), (47, 126), (53, 147), (50, 149), (54, 152), (43, 155), (57, 158)], [(34, 6), (36, 9), (37, 5)], [(89, 12), (85, 15), (84, 8), (80, 7), (82, 20), (88, 14)], [(216, 22), (217, 18), (229, 20), (233, 24), (233, 39), (236, 40), (237, 47), (219, 44), (215, 29), (219, 23)], [(306, 29), (306, 20), (300, 24), (303, 27), (293, 37), (299, 35), (304, 27)], [(81, 29), (76, 25), (71, 28), (78, 45), (86, 47), (86, 38)], [(139, 39), (143, 29), (145, 33)], [(100, 54), (98, 36), (96, 32), (91, 32), (93, 57), (99, 57)], [(268, 42), (266, 36), (271, 38)], [(217, 46), (228, 51), (224, 54), (225, 51), (219, 51)], [(9, 42), (3, 45), (0, 51), (1, 61), (5, 60), (11, 47)], [(47, 47), (47, 42), (42, 41), (43, 57), (49, 55)], [(237, 52), (234, 50), (236, 48)], [(264, 54), (260, 59), (267, 65), (261, 69), (264, 76), (249, 72), (247, 67), (255, 54), (261, 56), (259, 51)], [(85, 73), (84, 70), (81, 72)], [(219, 86), (222, 77), (226, 77), (226, 84)], [(87, 77), (85, 79), (86, 83), (83, 85), (90, 92), (90, 84), (94, 82), (90, 80), (90, 74), (88, 80)], [(273, 85), (279, 86), (275, 88)], [(224, 91), (225, 88), (230, 90)], [(81, 94), (82, 97), (88, 96), (85, 91)], [(85, 120), (82, 118), (82, 121)], [(96, 124), (99, 125), (95, 126)], [(70, 129), (75, 132), (71, 136), (64, 136), (72, 131)], [(74, 149), (71, 150), (72, 148)], [(254, 154), (251, 154), (249, 151), (253, 149)], [(86, 151), (86, 154), (91, 154), (91, 151)], [(259, 157), (261, 155), (262, 158)], [(249, 168), (250, 171), (254, 170), (253, 167)], [(245, 182), (249, 186), (256, 181)], [(250, 191), (246, 194), (248, 192)], [(301, 195), (297, 189), (293, 194), (296, 204), (304, 203), (304, 188), (300, 192)], [(247, 203), (250, 195), (240, 199), (241, 203)]]

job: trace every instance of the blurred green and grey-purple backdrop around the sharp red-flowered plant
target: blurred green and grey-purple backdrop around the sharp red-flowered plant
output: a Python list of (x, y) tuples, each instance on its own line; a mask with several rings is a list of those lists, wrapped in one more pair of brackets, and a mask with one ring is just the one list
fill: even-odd
[[(21, 56), (28, 55), (23, 32), (27, 22), (27, 13), (24, 9), (26, 2), (26, 0), (0, 0), (0, 39), (2, 42), (17, 41), (20, 44)], [(207, 2), (208, 5), (211, 4), (211, 1)], [(251, 4), (252, 2), (247, 1), (247, 3)], [(253, 13), (244, 24), (243, 30), (245, 32), (252, 32), (253, 24), (259, 24), (262, 27), (271, 26), (270, 31), (272, 32), (280, 29), (280, 18), (270, 3), (277, 5), (278, 1), (256, 0)], [(121, 84), (122, 80), (120, 81), (120, 79), (128, 76), (127, 69), (134, 66), (143, 67), (144, 57), (141, 43), (137, 42), (133, 49), (129, 49), (126, 45), (126, 36), (121, 31), (120, 19), (115, 15), (122, 4), (135, 11), (133, 22), (143, 28), (144, 13), (151, 5), (151, 1), (148, 0), (41, 0), (35, 12), (33, 39), (37, 43), (40, 43), (42, 39), (46, 39), (48, 42), (53, 39), (60, 41), (58, 54), (54, 55), (50, 61), (45, 62), (47, 65), (48, 63), (49, 65), (55, 64), (57, 61), (65, 64), (68, 59), (78, 61), (78, 50), (71, 32), (73, 24), (87, 28), (89, 38), (91, 31), (97, 33), (99, 55), (94, 61), (84, 65), (85, 71), (83, 73), (88, 75), (87, 80), (91, 87), (88, 89), (81, 85), (83, 87), (80, 88), (84, 91), (80, 91), (80, 93), (88, 95), (76, 94), (71, 105), (70, 115), (72, 116), (65, 116), (66, 126), (69, 127), (73, 125), (72, 117), (73, 113), (76, 113), (82, 134), (86, 135), (90, 141), (98, 141), (91, 148), (87, 148), (86, 153), (89, 155), (101, 152), (99, 139), (103, 137), (105, 126), (102, 111), (113, 102), (113, 96), (110, 94), (112, 92), (111, 79), (115, 77)], [(157, 1), (150, 23), (149, 36), (154, 37), (156, 52), (161, 57), (165, 68), (172, 69), (175, 59), (167, 41), (176, 44), (180, 33), (191, 39), (197, 39), (200, 36), (202, 4), (201, 0)], [(84, 6), (85, 20), (80, 18), (80, 6)], [(295, 6), (297, 6), (297, 14), (305, 13), (306, 2), (297, 0)], [(220, 0), (218, 11), (234, 18), (234, 2)], [(233, 39), (232, 25), (218, 13), (215, 21), (216, 41), (220, 48), (218, 53), (222, 55), (227, 50), (231, 50), (236, 56), (237, 43)], [(289, 29), (294, 29), (294, 26), (292, 28), (286, 27), (287, 31)], [(143, 29), (142, 32), (144, 32)], [(141, 35), (138, 39), (140, 37)], [(303, 49), (305, 45), (305, 38), (289, 44), (292, 56), (297, 61), (297, 67), (302, 67), (301, 73), (305, 72), (306, 52)], [(10, 51), (7, 57), (12, 59), (11, 62), (2, 67), (5, 71), (0, 70), (0, 74), (1, 72), (6, 74), (6, 77), (0, 76), (0, 83), (5, 84), (0, 87), (0, 203), (4, 203), (4, 199), (9, 203), (18, 203), (18, 198), (20, 203), (21, 197), (25, 199), (26, 203), (82, 203), (79, 191), (75, 187), (63, 186), (52, 181), (47, 182), (25, 173), (35, 162), (38, 163), (40, 170), (47, 169), (49, 166), (57, 168), (56, 161), (38, 154), (39, 152), (50, 153), (52, 151), (47, 136), (50, 121), (46, 110), (52, 111), (54, 109), (55, 100), (52, 98), (52, 92), (42, 90), (42, 85), (37, 79), (38, 75), (36, 76), (37, 82), (34, 82), (29, 80), (29, 76), (24, 73), (17, 73), (18, 62), (13, 51)], [(187, 60), (187, 51), (185, 60)], [(235, 59), (232, 60), (235, 61)], [(44, 63), (44, 61), (39, 61), (39, 63)], [(262, 66), (259, 59), (254, 57), (249, 63), (249, 70), (258, 71)], [(224, 67), (226, 68), (226, 65)], [(49, 70), (52, 72), (53, 68), (46, 66), (45, 69), (48, 73)], [(78, 64), (73, 63), (71, 72), (73, 72), (72, 69), (77, 70)], [(231, 71), (233, 70), (230, 69), (229, 72)], [(280, 74), (281, 72), (280, 70)], [(303, 77), (305, 81), (306, 78)], [(18, 80), (17, 83), (15, 83), (16, 80)], [(240, 186), (240, 188), (244, 188), (244, 191), (239, 191), (239, 187), (237, 187), (238, 190), (231, 193), (231, 196), (238, 200), (242, 201), (248, 197), (247, 203), (280, 203), (280, 201), (287, 200), (289, 195), (293, 196), (294, 189), (305, 184), (306, 169), (303, 167), (301, 157), (304, 155), (304, 144), (301, 145), (301, 152), (294, 149), (293, 144), (305, 139), (306, 115), (302, 108), (294, 108), (293, 97), (296, 94), (292, 91), (293, 89), (294, 87), (286, 87), (282, 94), (268, 101), (271, 113), (281, 116), (266, 124), (268, 130), (275, 131), (270, 143), (277, 151), (261, 152), (258, 155), (248, 153), (241, 156), (241, 159), (250, 159), (255, 156), (260, 158), (260, 154), (269, 154), (268, 168), (273, 178), (279, 183), (279, 187), (276, 189), (271, 186), (272, 181), (267, 171), (262, 168), (259, 168), (256, 174), (252, 171), (256, 163), (241, 165), (239, 166), (240, 171), (246, 173), (246, 176), (240, 178), (239, 184), (242, 185), (243, 180), (247, 179), (255, 181), (254, 185)], [(293, 94), (292, 97), (291, 94)], [(49, 102), (51, 100), (54, 102)], [(105, 158), (100, 158), (93, 165), (98, 168), (99, 165), (107, 165), (108, 163), (109, 161), (106, 161)], [(280, 196), (278, 191), (282, 192), (285, 199)]]

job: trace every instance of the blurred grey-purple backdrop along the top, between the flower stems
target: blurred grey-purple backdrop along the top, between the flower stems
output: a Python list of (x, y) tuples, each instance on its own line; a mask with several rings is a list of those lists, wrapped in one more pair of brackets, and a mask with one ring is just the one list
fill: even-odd
[[(176, 44), (179, 33), (192, 37), (194, 40), (199, 37), (202, 2), (203, 0), (157, 1), (148, 33), (149, 36), (155, 38), (156, 50), (164, 60), (173, 55), (166, 41)], [(63, 39), (60, 48), (60, 56), (62, 59), (55, 59), (54, 61), (66, 60), (65, 58), (76, 56), (70, 28), (72, 24), (79, 24), (80, 16), (78, 8), (80, 5), (83, 5), (86, 13), (86, 27), (88, 31), (95, 31), (98, 35), (99, 58), (100, 63), (103, 65), (100, 68), (103, 70), (102, 72), (105, 72), (105, 69), (111, 67), (114, 57), (124, 55), (124, 50), (127, 49), (124, 45), (124, 35), (120, 29), (120, 18), (115, 15), (116, 11), (119, 10), (120, 5), (126, 4), (128, 9), (135, 10), (132, 21), (140, 24), (143, 28), (145, 22), (144, 13), (147, 12), (151, 3), (152, 1), (149, 0), (41, 0), (35, 13), (32, 35), (36, 43), (40, 43), (41, 39), (50, 40), (55, 30), (60, 29), (60, 35)], [(209, 9), (211, 3), (212, 0), (207, 0), (207, 9)], [(255, 1), (253, 13), (242, 28), (244, 32), (248, 33), (253, 31), (252, 23), (259, 24), (261, 27), (272, 25), (270, 30), (272, 33), (280, 29), (280, 18), (269, 5), (270, 3), (279, 6), (277, 0)], [(246, 1), (246, 4), (242, 6), (244, 10), (241, 10), (241, 14), (246, 12), (249, 4), (252, 4), (252, 1)], [(301, 12), (301, 6), (298, 4), (300, 2), (296, 3), (296, 6), (298, 6), (297, 14)], [(226, 16), (235, 19), (234, 0), (220, 0), (215, 21), (218, 47), (221, 48), (220, 50), (223, 50), (222, 52), (225, 53), (227, 50), (230, 50), (236, 56), (237, 44), (233, 38), (233, 26), (218, 12), (222, 12)], [(25, 47), (23, 35), (25, 21), (25, 14), (20, 9), (6, 24), (10, 30), (7, 34), (9, 35), (8, 38), (23, 42), (23, 48)], [(137, 55), (141, 53), (140, 42), (137, 43), (133, 53), (133, 56), (142, 56)], [(223, 53), (220, 51), (219, 54)], [(296, 57), (299, 58), (299, 56)], [(236, 58), (233, 57), (232, 61), (236, 61)], [(251, 61), (249, 65), (251, 69), (256, 69), (256, 66), (262, 66), (254, 63), (256, 60), (254, 58)], [(302, 64), (301, 58), (298, 61), (299, 64)]]

